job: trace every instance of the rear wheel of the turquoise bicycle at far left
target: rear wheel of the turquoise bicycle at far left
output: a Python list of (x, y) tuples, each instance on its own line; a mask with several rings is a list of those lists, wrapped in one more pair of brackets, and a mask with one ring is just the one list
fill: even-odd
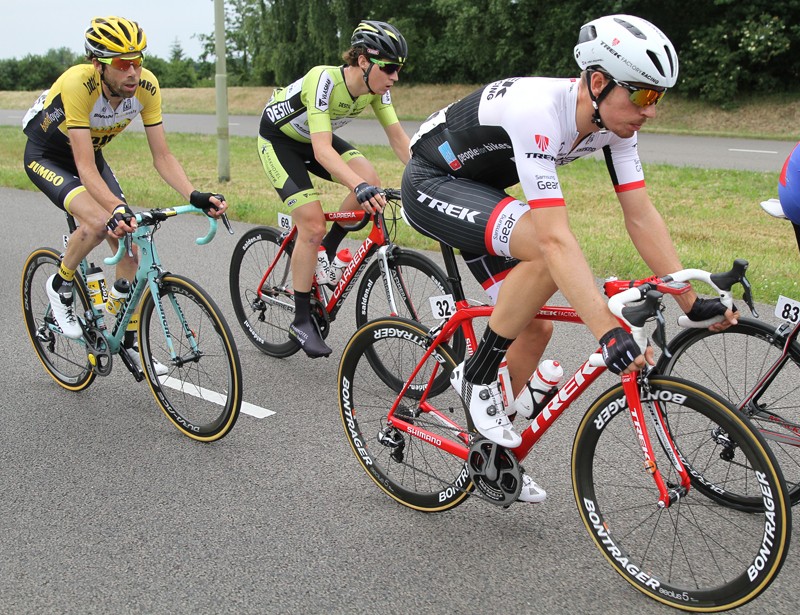
[[(82, 391), (94, 382), (97, 374), (86, 355), (81, 340), (73, 340), (48, 326), (50, 299), (45, 290), (48, 278), (56, 273), (61, 255), (51, 248), (37, 248), (28, 256), (22, 270), (21, 296), (25, 329), (45, 371), (69, 391)], [(80, 276), (75, 277), (77, 313), (89, 309), (89, 294)]]

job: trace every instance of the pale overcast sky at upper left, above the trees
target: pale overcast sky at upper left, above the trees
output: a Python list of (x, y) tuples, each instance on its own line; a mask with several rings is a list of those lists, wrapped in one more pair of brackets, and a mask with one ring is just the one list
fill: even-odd
[(117, 15), (139, 23), (147, 50), (169, 59), (177, 40), (196, 59), (202, 45), (193, 34), (214, 34), (214, 0), (0, 0), (0, 59), (44, 55), (67, 47), (83, 53), (83, 33), (93, 17)]

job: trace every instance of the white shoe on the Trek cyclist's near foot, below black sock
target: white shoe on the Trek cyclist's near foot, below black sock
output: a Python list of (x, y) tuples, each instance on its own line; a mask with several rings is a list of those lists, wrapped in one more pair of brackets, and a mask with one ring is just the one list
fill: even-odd
[(514, 431), (506, 416), (497, 381), (491, 384), (468, 382), (464, 379), (464, 364), (461, 363), (450, 375), (450, 384), (469, 409), (472, 423), (479, 434), (506, 448), (516, 448), (522, 444), (522, 437)]

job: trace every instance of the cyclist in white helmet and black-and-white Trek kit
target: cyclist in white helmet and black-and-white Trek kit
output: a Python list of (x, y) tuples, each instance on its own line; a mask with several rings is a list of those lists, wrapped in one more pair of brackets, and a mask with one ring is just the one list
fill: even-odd
[[(460, 249), (495, 301), (475, 353), (451, 383), (475, 429), (508, 448), (522, 439), (509, 416), (530, 417), (520, 399), (503, 406), (498, 367), (507, 357), (513, 394), (523, 390), (552, 334), (533, 320), (560, 290), (599, 341), (615, 374), (653, 363), (619, 326), (570, 230), (557, 167), (602, 150), (625, 226), (656, 275), (683, 268), (644, 182), (637, 132), (675, 85), (678, 57), (653, 24), (609, 15), (585, 24), (574, 49), (580, 77), (511, 77), (482, 87), (430, 116), (411, 140), (402, 182), (404, 214), (421, 233)], [(527, 202), (506, 190), (521, 184)], [(609, 246), (609, 249), (613, 249)], [(676, 297), (694, 321), (734, 312), (694, 291)], [(520, 499), (541, 502), (545, 490), (523, 476)]]

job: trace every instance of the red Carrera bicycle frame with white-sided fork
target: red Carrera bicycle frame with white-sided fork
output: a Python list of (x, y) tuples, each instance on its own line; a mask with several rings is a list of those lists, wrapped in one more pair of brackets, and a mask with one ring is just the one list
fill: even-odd
[[(363, 229), (370, 221), (372, 221), (372, 229), (370, 230), (369, 235), (364, 238), (364, 241), (353, 254), (353, 260), (342, 272), (342, 278), (339, 280), (336, 287), (331, 291), (330, 298), (328, 297), (328, 292), (324, 287), (318, 285), (316, 281), (313, 282), (313, 292), (320, 304), (325, 307), (325, 312), (328, 314), (328, 319), (330, 321), (336, 319), (336, 315), (341, 309), (342, 303), (347, 298), (347, 295), (350, 294), (350, 291), (355, 286), (355, 282), (364, 271), (364, 265), (366, 265), (367, 261), (372, 257), (373, 254), (375, 254), (375, 252), (378, 253), (381, 273), (383, 274), (382, 279), (384, 291), (386, 292), (386, 298), (391, 308), (391, 313), (392, 315), (397, 315), (398, 309), (394, 297), (394, 291), (386, 278), (387, 272), (389, 271), (388, 258), (390, 251), (394, 247), (394, 244), (389, 240), (389, 235), (386, 231), (386, 221), (383, 214), (379, 213), (373, 216), (372, 214), (368, 214), (363, 210), (325, 212), (325, 221), (355, 223), (355, 226), (351, 229), (353, 231)], [(286, 252), (288, 246), (291, 245), (296, 237), (297, 226), (292, 226), (291, 230), (284, 234), (280, 250), (276, 254), (273, 262), (267, 268), (267, 271), (262, 276), (261, 282), (258, 285), (258, 297), (262, 301), (276, 301), (274, 298), (265, 295), (262, 289), (264, 284), (266, 284), (267, 279), (277, 266), (281, 255)], [(281, 285), (285, 284), (288, 273), (288, 271), (284, 272)]]

